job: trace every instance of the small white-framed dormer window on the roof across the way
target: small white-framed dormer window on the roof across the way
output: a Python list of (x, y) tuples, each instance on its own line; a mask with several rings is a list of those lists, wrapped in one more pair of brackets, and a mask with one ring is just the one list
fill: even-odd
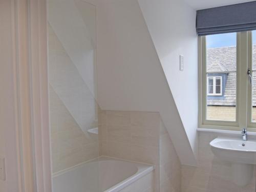
[(222, 77), (207, 77), (207, 94), (211, 96), (222, 95)]

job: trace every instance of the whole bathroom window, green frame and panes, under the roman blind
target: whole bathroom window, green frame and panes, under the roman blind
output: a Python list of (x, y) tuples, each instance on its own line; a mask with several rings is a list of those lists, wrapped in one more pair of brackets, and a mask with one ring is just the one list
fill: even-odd
[(256, 31), (201, 36), (199, 56), (199, 127), (256, 128)]

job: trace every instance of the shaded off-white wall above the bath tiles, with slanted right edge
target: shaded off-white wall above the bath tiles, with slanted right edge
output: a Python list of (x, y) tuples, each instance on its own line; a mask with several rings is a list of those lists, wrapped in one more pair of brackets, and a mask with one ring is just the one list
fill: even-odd
[(159, 111), (181, 163), (195, 165), (195, 156), (137, 0), (101, 1), (97, 13), (100, 107)]

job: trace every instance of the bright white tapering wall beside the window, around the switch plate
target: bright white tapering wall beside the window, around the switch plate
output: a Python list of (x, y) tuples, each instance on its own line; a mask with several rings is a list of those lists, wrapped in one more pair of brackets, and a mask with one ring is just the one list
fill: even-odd
[[(197, 151), (198, 45), (196, 11), (180, 0), (138, 0), (190, 145)], [(179, 56), (184, 70), (179, 70)]]

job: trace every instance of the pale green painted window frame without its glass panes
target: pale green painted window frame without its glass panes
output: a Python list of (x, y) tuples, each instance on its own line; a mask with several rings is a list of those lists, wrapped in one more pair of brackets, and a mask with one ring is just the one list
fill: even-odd
[(251, 84), (248, 81), (247, 69), (252, 69), (251, 32), (237, 33), (237, 105), (236, 121), (217, 121), (206, 119), (207, 107), (207, 74), (206, 74), (206, 36), (198, 37), (199, 62), (199, 128), (241, 130), (246, 127), (256, 131), (256, 123), (251, 121), (252, 99)]

